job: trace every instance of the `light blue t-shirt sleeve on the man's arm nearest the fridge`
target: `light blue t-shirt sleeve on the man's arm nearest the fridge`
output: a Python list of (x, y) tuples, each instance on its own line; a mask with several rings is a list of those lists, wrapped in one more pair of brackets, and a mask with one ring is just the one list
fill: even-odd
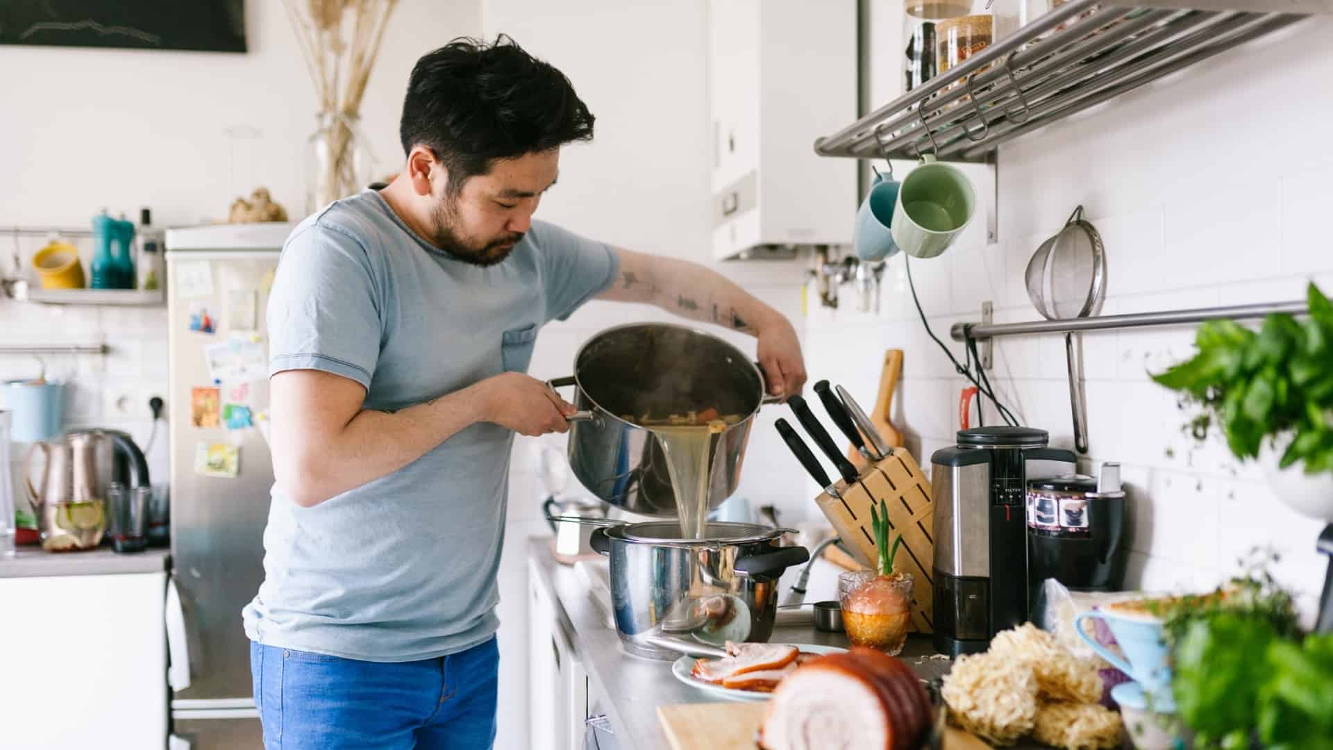
[(369, 390), (381, 308), (364, 246), (336, 228), (305, 227), (283, 247), (269, 291), (269, 375), (321, 370)]

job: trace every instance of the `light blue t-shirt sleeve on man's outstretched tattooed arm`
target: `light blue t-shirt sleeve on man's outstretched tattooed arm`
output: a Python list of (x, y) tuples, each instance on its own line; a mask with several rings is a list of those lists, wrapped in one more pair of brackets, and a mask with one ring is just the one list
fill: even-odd
[(555, 224), (533, 226), (547, 320), (564, 320), (620, 274), (620, 256), (607, 243), (591, 240)]

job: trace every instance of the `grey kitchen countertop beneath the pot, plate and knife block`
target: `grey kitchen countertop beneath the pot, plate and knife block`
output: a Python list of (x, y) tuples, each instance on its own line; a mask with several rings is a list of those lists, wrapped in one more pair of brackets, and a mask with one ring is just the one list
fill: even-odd
[[(657, 721), (657, 706), (670, 703), (704, 703), (716, 701), (696, 690), (670, 673), (670, 662), (645, 659), (627, 654), (620, 637), (607, 627), (601, 609), (593, 603), (588, 585), (572, 567), (556, 562), (549, 538), (533, 536), (528, 540), (528, 555), (535, 563), (540, 583), (559, 603), (557, 617), (573, 635), (584, 670), (596, 694), (604, 697), (601, 706), (611, 721), (621, 747), (635, 750), (669, 750), (666, 737)], [(609, 606), (609, 603), (608, 603)], [(813, 625), (776, 627), (773, 642), (814, 643), (846, 647), (841, 633), (820, 633)], [(948, 669), (946, 661), (928, 659), (933, 654), (928, 637), (913, 635), (900, 658), (922, 678), (933, 678)]]

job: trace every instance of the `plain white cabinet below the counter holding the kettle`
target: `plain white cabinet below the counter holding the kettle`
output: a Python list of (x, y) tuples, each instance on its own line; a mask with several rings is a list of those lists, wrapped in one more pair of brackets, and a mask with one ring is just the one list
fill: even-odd
[(164, 747), (165, 589), (165, 573), (0, 578), (0, 745)]

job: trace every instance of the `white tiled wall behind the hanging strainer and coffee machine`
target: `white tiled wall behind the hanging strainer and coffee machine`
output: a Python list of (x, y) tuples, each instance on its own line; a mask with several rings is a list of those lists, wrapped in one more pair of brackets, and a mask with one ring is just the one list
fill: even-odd
[[(878, 105), (898, 93), (898, 16), (893, 3), (873, 12), (873, 69), (889, 73), (872, 81)], [(1312, 53), (1293, 60), (1292, 49)], [(996, 322), (1038, 319), (1024, 267), (1078, 204), (1106, 246), (1104, 314), (1302, 299), (1309, 279), (1333, 291), (1325, 220), (1333, 156), (1312, 147), (1333, 116), (1330, 49), (1333, 19), (1309, 20), (1004, 147), (1001, 242), (985, 244), (978, 216), (966, 240), (912, 266), (936, 334), (948, 342), (949, 326), (978, 320), (986, 299)], [(901, 259), (885, 284), (877, 319), (814, 312), (808, 354), (817, 374), (873, 399), (884, 348), (904, 348), (894, 419), (926, 463), (952, 442), (964, 383), (916, 318)], [(1186, 414), (1148, 379), (1189, 356), (1192, 342), (1193, 327), (1084, 335), (1090, 455), (1082, 468), (1125, 466), (1136, 527), (1128, 585), (1212, 586), (1248, 547), (1270, 543), (1284, 554), (1282, 579), (1317, 595), (1328, 562), (1314, 552), (1322, 524), (1288, 510), (1221, 444), (1192, 446), (1181, 434)], [(961, 359), (961, 346), (949, 343)], [(1062, 336), (997, 339), (990, 380), (1026, 423), (1072, 447)]]

